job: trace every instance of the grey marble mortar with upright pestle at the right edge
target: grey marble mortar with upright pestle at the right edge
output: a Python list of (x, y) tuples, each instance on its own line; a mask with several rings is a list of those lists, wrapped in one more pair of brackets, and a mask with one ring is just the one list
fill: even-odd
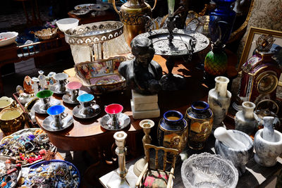
[(276, 165), (282, 153), (282, 134), (273, 129), (274, 117), (264, 117), (264, 128), (255, 134), (255, 161), (262, 166)]

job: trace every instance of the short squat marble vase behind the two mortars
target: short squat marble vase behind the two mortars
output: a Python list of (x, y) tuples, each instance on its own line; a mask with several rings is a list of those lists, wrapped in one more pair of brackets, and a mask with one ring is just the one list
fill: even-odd
[(255, 104), (245, 101), (242, 104), (243, 110), (235, 115), (235, 130), (240, 130), (251, 135), (257, 128), (257, 115), (254, 113)]

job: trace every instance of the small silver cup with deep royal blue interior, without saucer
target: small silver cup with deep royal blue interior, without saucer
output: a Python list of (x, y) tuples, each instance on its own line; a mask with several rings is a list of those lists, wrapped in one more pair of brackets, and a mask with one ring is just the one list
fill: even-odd
[(65, 109), (66, 108), (61, 105), (55, 105), (48, 108), (47, 113), (54, 119), (54, 124), (56, 127), (61, 127), (62, 119), (66, 118), (67, 114), (63, 113)]

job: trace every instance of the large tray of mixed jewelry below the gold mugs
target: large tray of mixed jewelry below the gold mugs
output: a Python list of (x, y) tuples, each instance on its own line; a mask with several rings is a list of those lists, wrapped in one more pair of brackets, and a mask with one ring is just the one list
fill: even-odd
[(0, 142), (0, 156), (16, 157), (23, 167), (52, 158), (56, 149), (47, 133), (39, 128), (19, 130)]

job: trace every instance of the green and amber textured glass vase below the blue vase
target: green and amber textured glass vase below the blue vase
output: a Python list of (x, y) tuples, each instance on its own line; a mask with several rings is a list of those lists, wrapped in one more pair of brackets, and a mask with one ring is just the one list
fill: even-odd
[(212, 46), (212, 51), (209, 51), (206, 58), (204, 58), (204, 70), (209, 75), (224, 75), (227, 63), (227, 56), (224, 49)]

